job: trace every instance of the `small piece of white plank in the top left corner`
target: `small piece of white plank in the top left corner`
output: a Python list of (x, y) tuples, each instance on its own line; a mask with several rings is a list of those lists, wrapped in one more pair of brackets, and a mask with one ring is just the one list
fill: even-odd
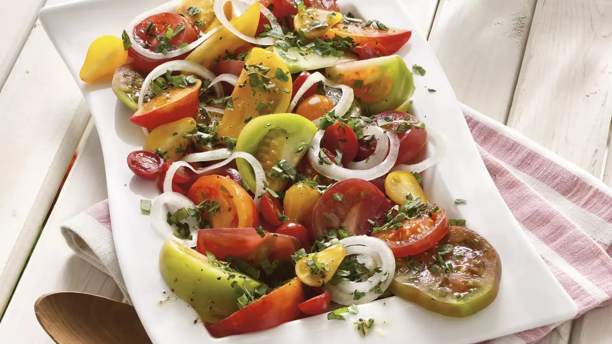
[(6, 15), (2, 17), (2, 24), (5, 28), (10, 28), (10, 34), (3, 37), (0, 45), (0, 89), (9, 77), (17, 56), (38, 18), (38, 11), (44, 3), (44, 0), (6, 2), (5, 6), (8, 8), (4, 12)]

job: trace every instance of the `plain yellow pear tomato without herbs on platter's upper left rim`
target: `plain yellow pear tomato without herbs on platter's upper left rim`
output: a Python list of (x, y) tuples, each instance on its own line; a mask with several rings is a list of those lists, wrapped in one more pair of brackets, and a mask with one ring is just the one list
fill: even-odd
[(127, 61), (123, 41), (115, 36), (101, 36), (91, 42), (79, 77), (86, 83), (110, 77), (117, 67)]

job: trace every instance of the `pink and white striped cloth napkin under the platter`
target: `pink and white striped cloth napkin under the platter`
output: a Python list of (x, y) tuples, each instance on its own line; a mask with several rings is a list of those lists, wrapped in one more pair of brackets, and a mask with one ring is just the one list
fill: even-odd
[[(612, 190), (520, 133), (463, 107), (482, 160), (514, 217), (578, 315), (612, 304)], [(127, 297), (111, 234), (108, 203), (91, 206), (61, 227), (67, 244), (113, 277)], [(559, 324), (490, 340), (534, 343)]]

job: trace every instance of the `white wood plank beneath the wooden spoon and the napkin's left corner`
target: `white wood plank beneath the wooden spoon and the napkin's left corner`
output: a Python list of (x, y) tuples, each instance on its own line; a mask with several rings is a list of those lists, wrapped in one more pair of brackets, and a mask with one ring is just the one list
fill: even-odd
[[(87, 192), (83, 192), (84, 185)], [(59, 231), (62, 222), (105, 198), (102, 150), (94, 130), (76, 159), (0, 322), (2, 343), (53, 343), (34, 316), (34, 301), (42, 294), (83, 291), (122, 299), (113, 279), (74, 255)]]

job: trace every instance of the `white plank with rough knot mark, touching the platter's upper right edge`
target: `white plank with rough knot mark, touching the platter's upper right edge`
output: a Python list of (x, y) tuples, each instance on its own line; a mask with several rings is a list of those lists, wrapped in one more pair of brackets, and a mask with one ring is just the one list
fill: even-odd
[(534, 6), (535, 0), (441, 0), (431, 28), (429, 41), (457, 99), (502, 123)]

